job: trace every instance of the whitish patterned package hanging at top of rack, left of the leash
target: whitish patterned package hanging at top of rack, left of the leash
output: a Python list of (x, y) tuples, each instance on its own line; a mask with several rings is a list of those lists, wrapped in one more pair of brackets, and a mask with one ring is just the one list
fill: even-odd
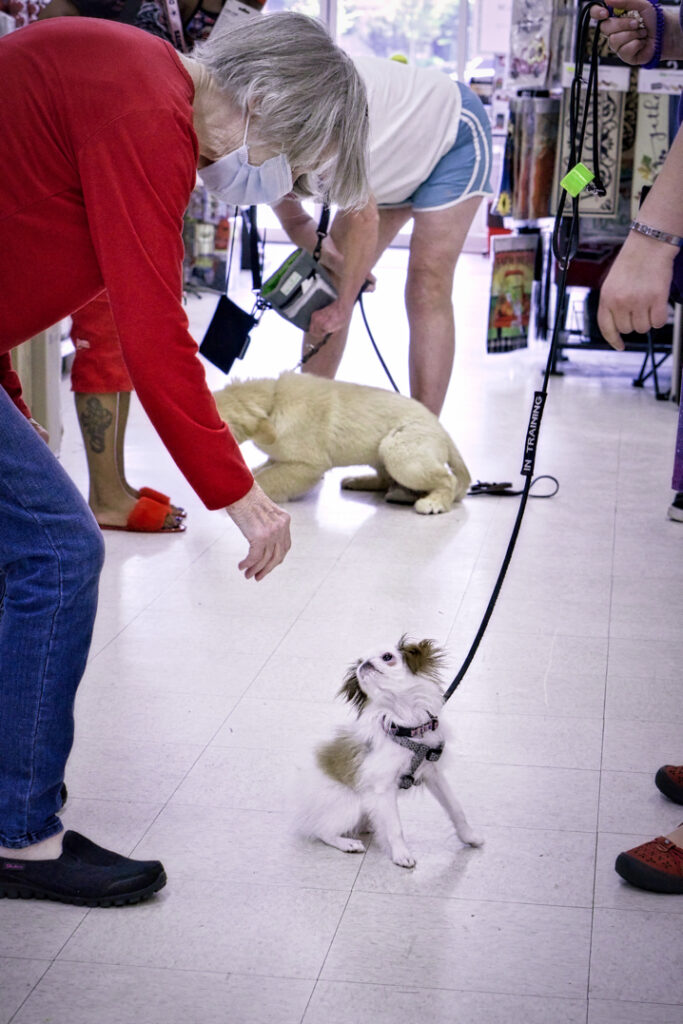
[(543, 89), (550, 58), (553, 8), (548, 0), (513, 0), (509, 85)]

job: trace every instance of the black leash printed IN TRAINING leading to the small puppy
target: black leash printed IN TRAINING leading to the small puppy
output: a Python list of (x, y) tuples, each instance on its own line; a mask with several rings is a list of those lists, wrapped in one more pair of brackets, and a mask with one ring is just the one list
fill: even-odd
[[(606, 3), (600, 3), (601, 7), (607, 8)], [(517, 537), (519, 536), (519, 528), (524, 517), (524, 510), (526, 509), (526, 502), (529, 498), (529, 490), (531, 488), (532, 475), (533, 475), (533, 464), (536, 462), (536, 455), (539, 444), (539, 433), (541, 430), (541, 420), (543, 418), (543, 411), (546, 403), (546, 397), (548, 395), (548, 381), (552, 372), (552, 367), (554, 365), (555, 354), (557, 351), (559, 334), (561, 329), (562, 319), (562, 308), (564, 305), (564, 297), (566, 295), (567, 289), (567, 270), (569, 268), (569, 263), (573, 259), (579, 245), (579, 195), (582, 189), (579, 189), (575, 195), (573, 190), (573, 182), (567, 179), (571, 178), (572, 174), (578, 170), (578, 165), (583, 168), (580, 164), (582, 152), (584, 147), (584, 139), (586, 136), (586, 126), (588, 124), (588, 112), (591, 103), (591, 97), (593, 98), (593, 181), (592, 184), (589, 183), (585, 187), (590, 187), (591, 190), (595, 190), (598, 194), (604, 195), (604, 188), (600, 181), (600, 168), (599, 168), (599, 124), (598, 124), (598, 97), (597, 97), (597, 74), (598, 74), (598, 45), (599, 45), (599, 32), (596, 29), (595, 36), (593, 39), (593, 46), (591, 49), (591, 66), (588, 76), (588, 82), (586, 83), (586, 100), (584, 104), (584, 115), (581, 124), (581, 129), (579, 129), (579, 118), (581, 112), (581, 96), (584, 73), (584, 57), (586, 51), (586, 45), (588, 41), (588, 29), (590, 26), (591, 15), (590, 15), (590, 4), (587, 4), (579, 12), (579, 23), (577, 26), (577, 41), (575, 41), (575, 55), (574, 55), (574, 77), (571, 82), (571, 93), (569, 101), (569, 140), (570, 140), (570, 151), (569, 151), (569, 166), (568, 173), (562, 179), (562, 193), (560, 196), (560, 201), (557, 208), (557, 213), (555, 215), (555, 224), (553, 229), (553, 255), (555, 256), (559, 268), (560, 268), (560, 279), (557, 287), (557, 302), (555, 305), (555, 323), (553, 325), (553, 334), (550, 342), (550, 350), (548, 352), (548, 361), (546, 364), (546, 371), (543, 377), (543, 385), (540, 391), (533, 393), (533, 400), (531, 402), (531, 413), (529, 416), (528, 427), (526, 429), (526, 438), (524, 440), (524, 452), (522, 457), (522, 468), (520, 470), (521, 475), (525, 477), (524, 485), (521, 490), (521, 497), (519, 501), (519, 508), (517, 509), (517, 516), (515, 518), (514, 526), (512, 527), (512, 536), (508, 544), (505, 557), (503, 559), (503, 564), (501, 566), (494, 591), (488, 600), (486, 610), (484, 611), (483, 618), (479, 629), (477, 630), (476, 636), (472, 641), (472, 645), (467, 653), (465, 660), (463, 662), (460, 671), (456, 675), (455, 679), (449, 686), (447, 690), (443, 694), (443, 702), (445, 703), (456, 689), (460, 686), (467, 670), (469, 669), (474, 655), (477, 652), (481, 639), (486, 632), (486, 627), (493, 614), (494, 608), (496, 607), (496, 602), (498, 600), (501, 588), (503, 587), (503, 581), (508, 571), (508, 566), (512, 559), (512, 553), (515, 549), (517, 543)], [(590, 177), (590, 171), (588, 172)], [(567, 191), (565, 183), (569, 185), (570, 191)], [(566, 202), (567, 195), (571, 195), (571, 224), (567, 225), (566, 216), (564, 214), (564, 206)], [(568, 227), (568, 229), (567, 229)], [(541, 477), (539, 477), (541, 479)], [(499, 485), (500, 486), (500, 485)], [(549, 496), (547, 496), (549, 497)]]

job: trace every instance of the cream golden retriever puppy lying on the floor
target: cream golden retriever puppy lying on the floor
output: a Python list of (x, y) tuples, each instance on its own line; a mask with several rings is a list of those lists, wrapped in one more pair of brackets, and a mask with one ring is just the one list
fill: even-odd
[(345, 479), (351, 490), (417, 492), (416, 512), (449, 512), (470, 484), (462, 456), (437, 418), (414, 398), (285, 373), (238, 381), (214, 394), (238, 443), (252, 440), (268, 456), (255, 476), (274, 502), (305, 494), (334, 466), (371, 466)]

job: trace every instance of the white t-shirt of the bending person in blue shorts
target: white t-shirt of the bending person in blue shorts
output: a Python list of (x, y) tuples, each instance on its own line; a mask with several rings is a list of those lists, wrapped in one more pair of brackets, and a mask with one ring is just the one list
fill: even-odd
[(402, 203), (456, 141), (460, 89), (444, 72), (384, 57), (353, 57), (368, 91), (370, 186), (378, 203)]

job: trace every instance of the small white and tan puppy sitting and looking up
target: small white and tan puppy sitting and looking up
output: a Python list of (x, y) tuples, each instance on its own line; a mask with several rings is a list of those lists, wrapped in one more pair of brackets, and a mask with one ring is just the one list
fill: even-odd
[(439, 667), (431, 640), (402, 637), (349, 670), (339, 691), (355, 721), (316, 751), (316, 778), (297, 830), (345, 853), (364, 853), (357, 839), (370, 824), (394, 864), (414, 867), (398, 816), (398, 794), (424, 786), (446, 812), (462, 843), (480, 846), (442, 771), (446, 729)]

